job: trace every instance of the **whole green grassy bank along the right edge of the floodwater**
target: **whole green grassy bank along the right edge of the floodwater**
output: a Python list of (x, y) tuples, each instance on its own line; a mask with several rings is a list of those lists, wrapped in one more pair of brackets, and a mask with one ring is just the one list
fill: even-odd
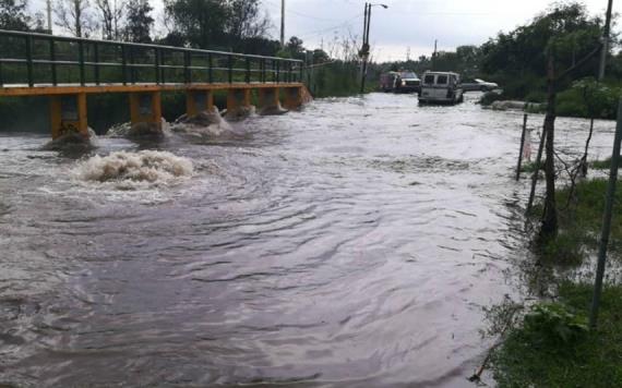
[[(622, 286), (606, 287), (598, 330), (590, 331), (591, 278), (571, 279), (557, 270), (578, 267), (597, 250), (607, 185), (605, 179), (593, 179), (579, 181), (574, 190), (558, 190), (559, 234), (537, 241), (538, 263), (528, 269), (554, 274), (550, 279), (554, 302), (526, 308), (492, 352), (499, 387), (622, 387)], [(610, 260), (618, 260), (622, 252), (621, 191), (615, 199)], [(537, 219), (541, 210), (541, 205), (536, 206), (531, 217)]]

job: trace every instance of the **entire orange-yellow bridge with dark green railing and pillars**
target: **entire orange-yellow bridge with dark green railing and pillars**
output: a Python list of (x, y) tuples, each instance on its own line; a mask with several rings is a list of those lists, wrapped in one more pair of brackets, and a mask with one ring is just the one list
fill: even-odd
[(184, 92), (187, 114), (251, 106), (295, 109), (308, 98), (300, 60), (0, 29), (0, 97), (49, 96), (52, 138), (88, 137), (86, 96), (129, 95), (132, 125), (162, 130), (162, 93)]

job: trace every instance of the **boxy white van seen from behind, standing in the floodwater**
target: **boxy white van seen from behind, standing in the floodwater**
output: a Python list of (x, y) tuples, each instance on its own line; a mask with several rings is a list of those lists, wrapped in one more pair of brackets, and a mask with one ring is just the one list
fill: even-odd
[(421, 78), (420, 104), (459, 104), (464, 90), (460, 75), (451, 72), (426, 72)]

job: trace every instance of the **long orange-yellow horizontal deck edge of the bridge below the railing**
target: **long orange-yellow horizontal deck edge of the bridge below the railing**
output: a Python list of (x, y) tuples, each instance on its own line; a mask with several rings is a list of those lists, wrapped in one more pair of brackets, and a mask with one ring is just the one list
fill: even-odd
[(101, 94), (101, 93), (136, 93), (136, 92), (176, 92), (176, 90), (228, 90), (228, 89), (260, 89), (260, 88), (288, 88), (300, 87), (301, 83), (137, 83), (137, 84), (13, 84), (0, 87), (0, 97), (17, 96), (56, 96), (71, 94)]

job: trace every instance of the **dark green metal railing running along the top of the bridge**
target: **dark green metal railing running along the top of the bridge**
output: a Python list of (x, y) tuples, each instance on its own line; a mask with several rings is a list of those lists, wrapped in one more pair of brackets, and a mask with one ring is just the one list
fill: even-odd
[(0, 87), (302, 82), (300, 60), (0, 29)]

